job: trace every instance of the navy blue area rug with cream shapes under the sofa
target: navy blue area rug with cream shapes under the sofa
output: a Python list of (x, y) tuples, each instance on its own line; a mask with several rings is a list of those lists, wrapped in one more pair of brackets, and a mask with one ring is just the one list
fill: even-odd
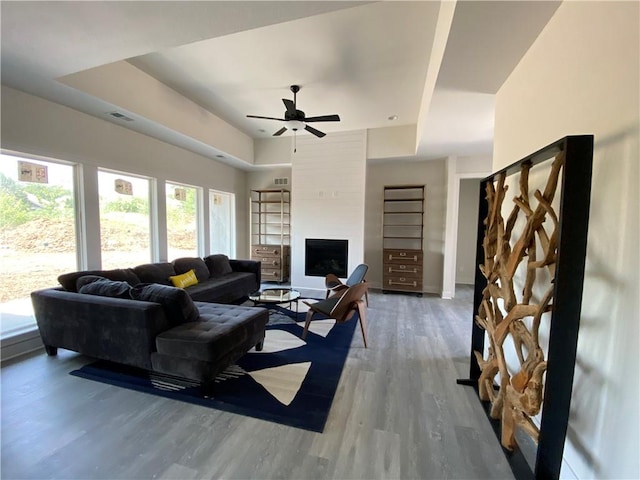
[(102, 360), (71, 375), (322, 432), (358, 320), (336, 324), (314, 316), (303, 341), (305, 307), (300, 302), (297, 318), (270, 307), (263, 350), (251, 350), (221, 373), (211, 397), (195, 382)]

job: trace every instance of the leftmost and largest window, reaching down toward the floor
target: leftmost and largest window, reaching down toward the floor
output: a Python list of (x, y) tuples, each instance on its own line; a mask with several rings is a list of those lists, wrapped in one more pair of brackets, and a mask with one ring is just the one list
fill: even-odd
[(35, 325), (29, 294), (77, 269), (74, 168), (0, 155), (0, 334)]

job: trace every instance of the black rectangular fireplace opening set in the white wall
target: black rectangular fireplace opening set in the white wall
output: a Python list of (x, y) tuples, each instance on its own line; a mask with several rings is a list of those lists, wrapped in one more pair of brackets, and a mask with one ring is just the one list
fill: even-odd
[(333, 273), (346, 278), (348, 240), (307, 238), (305, 240), (304, 274), (307, 277), (324, 277)]

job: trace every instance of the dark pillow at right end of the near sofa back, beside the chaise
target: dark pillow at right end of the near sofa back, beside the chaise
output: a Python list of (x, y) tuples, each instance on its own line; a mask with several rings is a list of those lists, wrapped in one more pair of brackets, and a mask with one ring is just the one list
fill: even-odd
[(131, 289), (131, 298), (162, 305), (171, 325), (194, 322), (200, 314), (193, 300), (181, 288), (169, 287), (158, 283), (139, 283)]

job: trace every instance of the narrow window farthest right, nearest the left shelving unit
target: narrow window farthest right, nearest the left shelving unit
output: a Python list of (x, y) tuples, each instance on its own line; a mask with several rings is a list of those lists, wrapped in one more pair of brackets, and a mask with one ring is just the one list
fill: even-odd
[(209, 190), (209, 233), (211, 253), (235, 257), (235, 195)]

